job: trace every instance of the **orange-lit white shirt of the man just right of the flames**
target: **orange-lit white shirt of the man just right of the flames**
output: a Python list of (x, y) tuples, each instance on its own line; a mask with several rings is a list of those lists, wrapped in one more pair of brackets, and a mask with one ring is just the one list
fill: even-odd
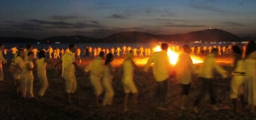
[(189, 84), (191, 82), (191, 74), (195, 73), (195, 66), (189, 54), (183, 53), (178, 56), (175, 69), (179, 83)]

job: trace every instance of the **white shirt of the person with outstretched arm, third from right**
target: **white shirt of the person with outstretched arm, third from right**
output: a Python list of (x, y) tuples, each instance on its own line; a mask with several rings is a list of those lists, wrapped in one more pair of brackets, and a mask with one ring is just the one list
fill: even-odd
[(218, 66), (213, 54), (208, 54), (200, 67), (199, 77), (212, 78), (212, 71), (214, 69), (221, 75), (224, 75), (227, 72), (221, 66)]

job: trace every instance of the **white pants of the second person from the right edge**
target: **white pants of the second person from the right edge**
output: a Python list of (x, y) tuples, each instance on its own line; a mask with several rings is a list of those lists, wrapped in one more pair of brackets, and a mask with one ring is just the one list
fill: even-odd
[(232, 77), (230, 84), (230, 99), (236, 99), (240, 94), (243, 93), (242, 83), (244, 82), (244, 76)]

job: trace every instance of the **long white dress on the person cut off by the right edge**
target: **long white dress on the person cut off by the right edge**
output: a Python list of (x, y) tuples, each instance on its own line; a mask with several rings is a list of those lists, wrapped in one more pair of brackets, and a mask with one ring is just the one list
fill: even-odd
[(249, 105), (256, 106), (256, 52), (249, 54), (245, 60), (246, 76), (245, 84), (245, 101)]

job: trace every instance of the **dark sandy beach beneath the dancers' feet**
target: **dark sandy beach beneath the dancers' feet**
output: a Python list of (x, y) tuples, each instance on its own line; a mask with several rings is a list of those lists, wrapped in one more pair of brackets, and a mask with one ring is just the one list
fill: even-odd
[[(203, 59), (203, 57), (201, 57)], [(79, 67), (84, 70), (92, 59), (77, 60)], [(169, 91), (166, 97), (167, 111), (157, 111), (150, 106), (154, 95), (156, 82), (152, 70), (146, 73), (143, 66), (148, 57), (135, 58), (137, 68), (135, 70), (134, 81), (139, 91), (137, 107), (130, 106), (132, 111), (123, 111), (124, 90), (121, 83), (122, 75), (118, 72), (123, 58), (115, 58), (113, 66), (116, 71), (113, 76), (114, 98), (113, 106), (97, 108), (94, 106), (94, 94), (90, 86), (89, 73), (77, 71), (78, 89), (72, 96), (72, 105), (67, 106), (65, 99), (65, 82), (61, 78), (61, 66), (57, 70), (53, 66), (47, 67), (49, 78), (49, 89), (47, 89), (43, 100), (38, 99), (38, 89), (40, 84), (36, 71), (34, 71), (33, 93), (34, 100), (24, 100), (15, 95), (15, 86), (12, 75), (9, 73), (8, 64), (3, 65), (5, 78), (0, 86), (0, 119), (253, 119), (255, 114), (248, 111), (241, 113), (232, 111), (233, 106), (230, 100), (230, 77), (222, 78), (219, 74), (214, 74), (215, 89), (219, 111), (212, 111), (209, 98), (202, 101), (199, 106), (200, 114), (192, 111), (195, 97), (200, 94), (201, 81), (193, 76), (190, 93), (186, 101), (187, 110), (179, 110), (181, 98), (181, 87), (174, 80), (169, 81)], [(230, 70), (232, 57), (229, 55), (218, 56), (218, 64), (224, 66), (225, 70)], [(50, 60), (56, 63), (58, 60)], [(197, 67), (200, 65), (197, 65)], [(103, 95), (101, 96), (102, 101)], [(128, 103), (129, 104), (129, 103)], [(131, 104), (130, 104), (131, 105)]]

